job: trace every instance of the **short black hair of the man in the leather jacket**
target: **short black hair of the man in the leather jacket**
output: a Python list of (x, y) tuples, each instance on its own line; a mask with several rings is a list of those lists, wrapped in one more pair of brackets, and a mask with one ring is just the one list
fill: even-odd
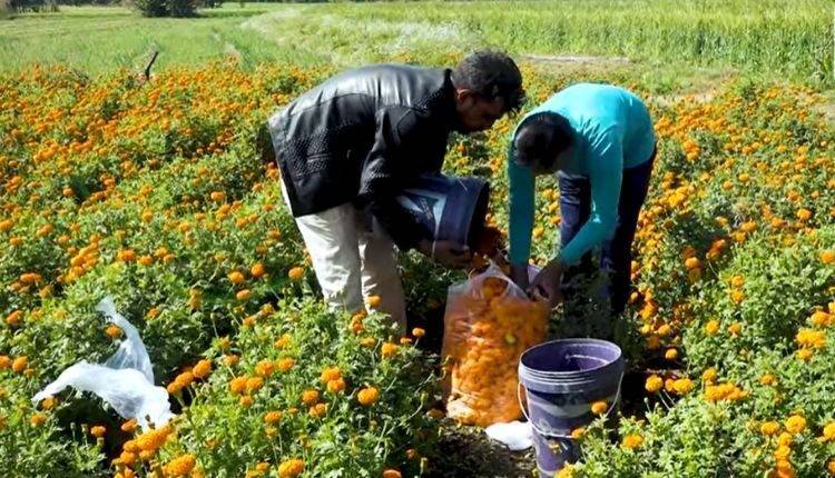
[(455, 88), (493, 100), (502, 98), (507, 111), (517, 111), (524, 103), (522, 73), (513, 59), (495, 50), (477, 51), (452, 70)]

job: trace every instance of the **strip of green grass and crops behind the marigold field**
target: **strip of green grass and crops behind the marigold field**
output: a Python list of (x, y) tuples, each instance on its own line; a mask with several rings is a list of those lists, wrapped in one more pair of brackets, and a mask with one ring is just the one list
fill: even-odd
[(442, 62), (491, 46), (517, 56), (626, 57), (660, 82), (708, 70), (828, 87), (832, 13), (828, 0), (227, 3), (197, 19), (62, 7), (0, 22), (0, 69), (60, 61), (101, 72), (138, 67), (151, 49), (163, 53), (157, 68), (228, 54), (245, 64)]

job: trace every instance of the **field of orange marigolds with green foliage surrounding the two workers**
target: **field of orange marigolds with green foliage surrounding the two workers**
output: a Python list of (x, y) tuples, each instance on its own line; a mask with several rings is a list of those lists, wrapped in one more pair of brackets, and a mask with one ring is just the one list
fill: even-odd
[[(0, 77), (0, 476), (466, 476), (444, 465), (456, 458), (440, 437), (454, 425), (436, 408), (426, 331), (400, 337), (382, 317), (324, 309), (262, 161), (263, 121), (331, 72), (229, 61), (148, 82), (61, 67)], [(776, 81), (660, 97), (617, 72), (523, 74), (527, 108), (578, 80), (627, 86), (659, 137), (628, 313), (607, 318), (592, 281), (549, 325), (620, 343), (625, 387), (639, 392), (617, 420), (574, 430), (584, 458), (559, 476), (835, 476), (824, 98)], [(490, 179), (500, 228), (517, 119), (454, 137), (446, 160)], [(558, 199), (539, 185), (539, 263)], [(428, 316), (463, 277), (414, 255), (401, 265)], [(166, 427), (143, 431), (89, 394), (31, 402), (68, 366), (114, 352), (122, 331), (95, 310), (108, 295), (171, 395)]]

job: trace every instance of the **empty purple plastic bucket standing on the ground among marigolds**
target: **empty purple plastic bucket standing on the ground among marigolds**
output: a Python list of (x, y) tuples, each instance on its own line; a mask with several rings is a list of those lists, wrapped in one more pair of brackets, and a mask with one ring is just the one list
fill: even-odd
[(521, 404), (524, 390), (540, 476), (553, 476), (580, 458), (571, 430), (596, 418), (591, 404), (606, 400), (607, 415), (615, 408), (623, 369), (620, 347), (606, 340), (552, 340), (522, 353), (520, 405), (525, 410)]

